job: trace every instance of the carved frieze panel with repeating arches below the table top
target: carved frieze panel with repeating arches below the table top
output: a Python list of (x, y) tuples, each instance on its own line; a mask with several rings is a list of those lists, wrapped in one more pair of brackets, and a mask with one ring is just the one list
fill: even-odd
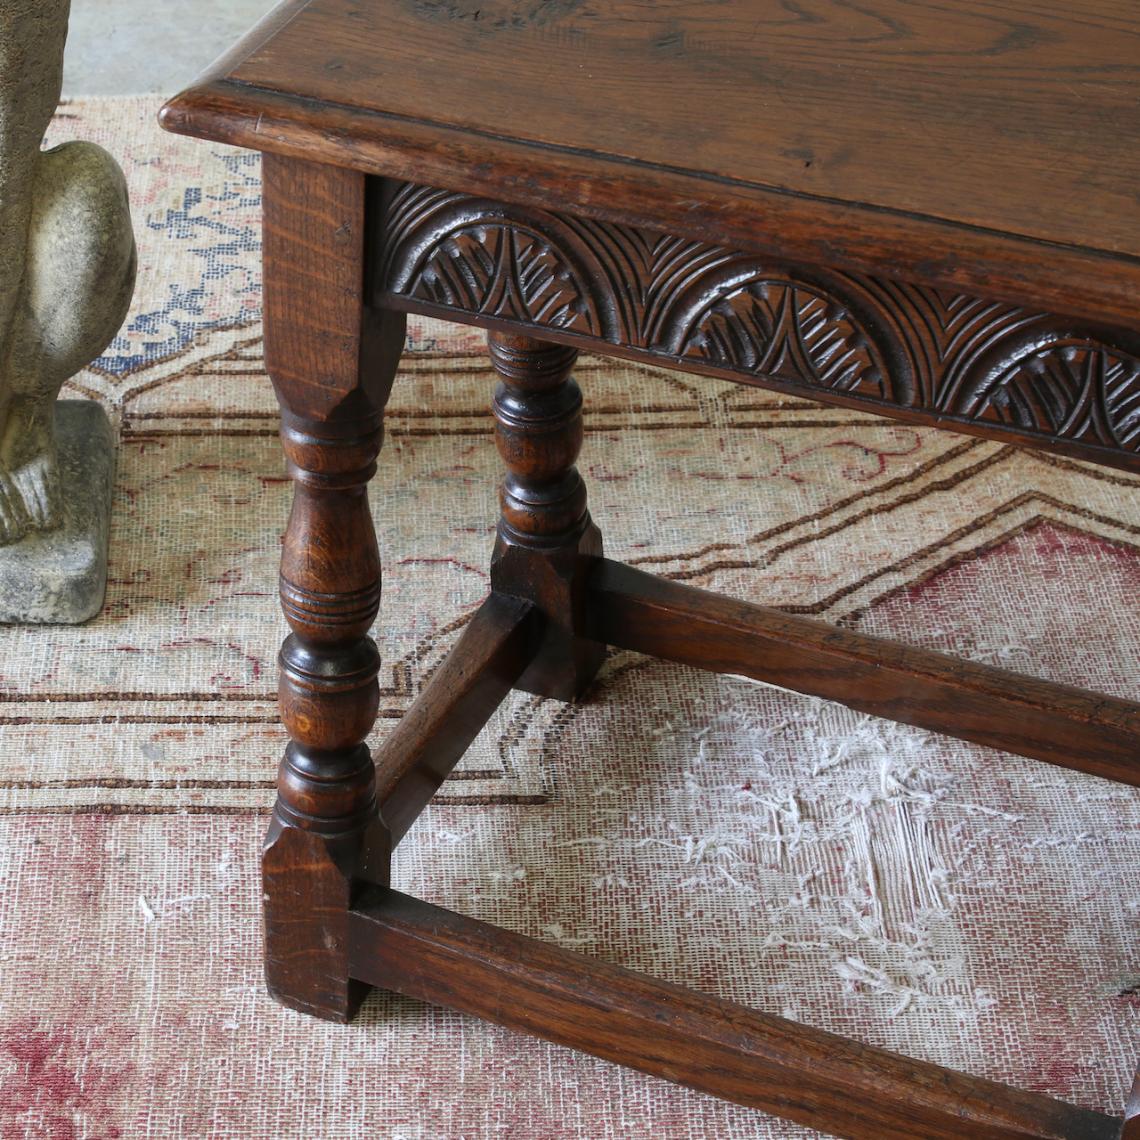
[(381, 303), (557, 329), (1140, 465), (1140, 331), (410, 184), (380, 189)]

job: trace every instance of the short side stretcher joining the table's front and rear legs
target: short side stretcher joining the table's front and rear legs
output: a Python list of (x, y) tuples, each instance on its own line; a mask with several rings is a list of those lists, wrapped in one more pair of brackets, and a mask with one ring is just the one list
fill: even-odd
[(375, 756), (394, 847), (482, 731), (537, 649), (530, 602), (491, 594)]

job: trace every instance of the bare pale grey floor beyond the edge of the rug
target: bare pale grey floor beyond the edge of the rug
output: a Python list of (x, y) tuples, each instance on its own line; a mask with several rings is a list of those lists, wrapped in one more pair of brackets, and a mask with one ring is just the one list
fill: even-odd
[(173, 93), (274, 6), (274, 0), (72, 0), (64, 93)]

